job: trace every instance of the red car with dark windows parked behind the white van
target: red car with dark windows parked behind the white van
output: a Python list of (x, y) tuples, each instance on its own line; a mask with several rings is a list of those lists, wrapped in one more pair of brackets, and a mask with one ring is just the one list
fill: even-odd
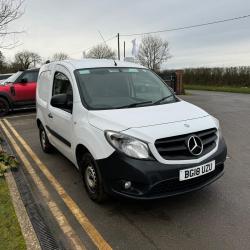
[(35, 106), (39, 69), (18, 71), (0, 84), (0, 116), (10, 110)]

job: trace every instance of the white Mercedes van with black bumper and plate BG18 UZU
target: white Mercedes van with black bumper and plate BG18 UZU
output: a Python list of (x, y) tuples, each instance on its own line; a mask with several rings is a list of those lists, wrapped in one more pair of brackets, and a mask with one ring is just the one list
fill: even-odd
[(216, 118), (128, 62), (44, 65), (37, 125), (43, 151), (55, 147), (71, 160), (97, 202), (107, 194), (155, 199), (200, 189), (222, 176), (227, 155)]

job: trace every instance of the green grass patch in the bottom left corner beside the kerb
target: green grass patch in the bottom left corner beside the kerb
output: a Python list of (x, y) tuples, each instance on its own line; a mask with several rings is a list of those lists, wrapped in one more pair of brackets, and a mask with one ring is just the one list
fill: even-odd
[(9, 190), (3, 177), (0, 177), (0, 249), (26, 249)]

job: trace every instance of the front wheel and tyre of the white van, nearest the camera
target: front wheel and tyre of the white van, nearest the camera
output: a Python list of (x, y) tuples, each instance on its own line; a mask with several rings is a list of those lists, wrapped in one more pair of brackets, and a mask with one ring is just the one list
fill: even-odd
[(81, 161), (81, 176), (91, 200), (102, 203), (107, 199), (98, 165), (90, 153), (85, 153)]

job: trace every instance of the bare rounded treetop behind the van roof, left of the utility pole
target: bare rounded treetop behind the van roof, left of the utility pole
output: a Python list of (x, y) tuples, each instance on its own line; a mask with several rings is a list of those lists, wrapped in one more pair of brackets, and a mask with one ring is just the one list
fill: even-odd
[(107, 45), (99, 44), (94, 46), (86, 55), (87, 58), (115, 59), (116, 53)]

